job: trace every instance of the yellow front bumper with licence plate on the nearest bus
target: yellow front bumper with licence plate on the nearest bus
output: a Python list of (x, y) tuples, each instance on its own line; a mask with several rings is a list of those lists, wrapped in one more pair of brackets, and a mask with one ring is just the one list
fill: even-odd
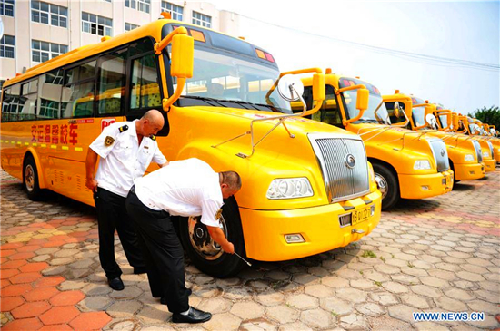
[[(240, 208), (246, 256), (260, 261), (305, 258), (345, 247), (375, 229), (380, 220), (379, 190), (360, 198), (347, 200), (343, 205), (332, 203), (289, 210)], [(353, 217), (360, 212), (367, 215), (367, 218), (354, 225), (341, 227), (340, 216), (350, 214)], [(305, 242), (288, 243), (285, 235), (291, 234), (300, 234)]]

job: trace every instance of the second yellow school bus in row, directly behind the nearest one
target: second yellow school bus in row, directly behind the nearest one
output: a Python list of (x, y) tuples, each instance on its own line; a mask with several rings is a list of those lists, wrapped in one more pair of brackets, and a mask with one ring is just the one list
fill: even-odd
[[(452, 190), (453, 173), (443, 141), (391, 126), (390, 114), (375, 85), (335, 73), (325, 74), (325, 80), (326, 100), (313, 119), (345, 128), (365, 141), (383, 194), (382, 209), (392, 208), (401, 198), (423, 199)], [(310, 94), (312, 79), (303, 81)], [(369, 91), (368, 109), (361, 112), (355, 107), (359, 89)]]

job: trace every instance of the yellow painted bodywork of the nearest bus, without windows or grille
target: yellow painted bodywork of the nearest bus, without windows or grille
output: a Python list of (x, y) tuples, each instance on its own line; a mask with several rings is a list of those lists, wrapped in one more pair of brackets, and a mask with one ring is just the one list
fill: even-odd
[[(171, 22), (158, 20), (131, 32), (109, 38), (100, 44), (82, 47), (48, 63), (40, 64), (5, 84), (22, 82), (35, 75), (68, 63), (75, 63), (145, 36), (150, 36), (159, 42), (163, 25)], [(159, 67), (161, 77), (158, 82), (166, 92), (167, 80), (162, 57), (159, 58)], [(157, 89), (152, 88), (151, 91), (157, 92)], [(106, 93), (109, 97), (113, 97), (115, 92), (117, 90)], [(105, 95), (100, 97), (105, 98)], [(163, 98), (168, 98), (168, 95), (163, 95)], [(165, 99), (163, 100), (165, 105)], [(89, 101), (91, 100), (80, 100), (80, 102)], [(166, 137), (157, 137), (159, 148), (168, 160), (196, 157), (208, 162), (215, 171), (236, 170), (241, 175), (243, 187), (235, 195), (235, 200), (240, 208), (245, 243), (248, 245), (246, 254), (249, 258), (262, 260), (302, 258), (345, 246), (360, 239), (363, 235), (351, 234), (353, 227), (339, 228), (338, 217), (346, 213), (343, 206), (354, 206), (357, 211), (363, 209), (365, 201), (371, 200), (369, 205), (375, 206), (375, 214), (365, 221), (365, 224), (359, 224), (357, 227), (364, 229), (367, 234), (378, 223), (381, 202), (375, 181), (371, 180), (370, 190), (365, 196), (331, 203), (326, 195), (322, 171), (307, 137), (309, 133), (328, 133), (357, 139), (355, 134), (325, 123), (294, 117), (285, 121), (286, 129), (294, 134), (293, 137), (283, 126), (278, 126), (255, 147), (255, 154), (252, 157), (242, 158), (236, 154), (248, 155), (252, 150), (249, 135), (216, 148), (213, 146), (245, 133), (249, 130), (252, 120), (274, 117), (276, 115), (274, 112), (227, 107), (179, 107), (175, 104), (169, 111), (170, 133)], [(88, 145), (95, 140), (106, 124), (113, 121), (126, 120), (125, 117), (116, 116), (2, 123), (0, 128), (2, 168), (22, 180), (23, 161), (30, 148), (37, 160), (41, 188), (55, 190), (75, 200), (93, 205), (92, 193), (85, 188), (85, 156)], [(256, 122), (255, 139), (264, 137), (276, 122), (276, 120)], [(46, 126), (58, 133), (50, 131), (50, 138), (45, 138), (49, 136), (45, 134)], [(33, 128), (35, 128), (34, 135), (32, 135)], [(61, 140), (63, 128), (67, 130), (65, 141)], [(57, 142), (53, 141), (55, 137), (58, 137)], [(155, 169), (157, 165), (154, 164), (148, 170)], [(314, 195), (286, 200), (266, 198), (266, 191), (272, 180), (291, 177), (306, 177), (311, 183)], [(349, 209), (349, 212), (353, 211)], [(327, 221), (330, 222), (329, 226), (325, 226)], [(304, 232), (307, 243), (284, 245), (283, 236), (280, 237), (279, 234), (286, 231)]]

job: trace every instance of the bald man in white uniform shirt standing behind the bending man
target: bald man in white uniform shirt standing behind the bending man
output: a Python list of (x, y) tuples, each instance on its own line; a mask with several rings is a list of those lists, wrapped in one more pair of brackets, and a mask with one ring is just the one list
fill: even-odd
[(125, 211), (125, 198), (134, 180), (144, 175), (151, 161), (161, 167), (168, 164), (155, 138), (164, 122), (162, 113), (155, 110), (134, 122), (115, 122), (92, 142), (86, 156), (86, 187), (94, 192), (97, 209), (99, 259), (109, 286), (118, 291), (124, 289), (124, 283), (115, 260), (115, 229), (134, 273), (145, 273), (137, 234)]

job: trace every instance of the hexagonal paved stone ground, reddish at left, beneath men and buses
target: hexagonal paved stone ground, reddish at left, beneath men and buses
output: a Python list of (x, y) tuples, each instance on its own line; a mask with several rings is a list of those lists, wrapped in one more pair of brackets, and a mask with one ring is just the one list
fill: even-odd
[[(168, 323), (145, 275), (119, 241), (124, 291), (99, 266), (95, 209), (55, 196), (27, 200), (4, 171), (1, 189), (2, 330), (470, 330), (500, 327), (500, 171), (451, 193), (406, 200), (365, 239), (311, 258), (255, 263), (214, 279), (186, 268), (190, 304), (214, 314)], [(482, 322), (420, 322), (412, 312), (485, 312)]]

